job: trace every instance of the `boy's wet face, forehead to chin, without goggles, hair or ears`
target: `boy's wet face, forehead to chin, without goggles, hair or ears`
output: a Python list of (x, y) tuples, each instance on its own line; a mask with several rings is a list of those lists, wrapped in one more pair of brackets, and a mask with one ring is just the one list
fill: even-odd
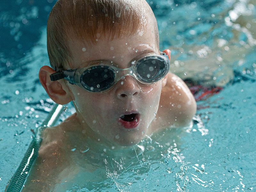
[[(137, 56), (159, 54), (154, 30), (150, 27), (132, 36), (114, 38), (112, 41), (102, 37), (96, 41), (90, 46), (78, 40), (70, 41), (72, 69), (86, 67), (90, 65), (88, 61), (93, 60), (108, 60), (118, 68), (129, 68), (129, 62)], [(147, 134), (158, 109), (162, 80), (152, 85), (142, 85), (132, 76), (125, 76), (106, 93), (87, 92), (71, 84), (68, 87), (82, 126), (88, 125), (94, 133), (113, 144), (129, 146), (140, 142)], [(129, 114), (136, 114), (133, 128), (120, 120), (120, 117)]]

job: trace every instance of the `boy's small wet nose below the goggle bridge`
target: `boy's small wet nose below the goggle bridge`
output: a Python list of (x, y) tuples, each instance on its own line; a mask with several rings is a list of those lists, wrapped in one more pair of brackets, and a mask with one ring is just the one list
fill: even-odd
[(116, 89), (116, 95), (119, 99), (127, 99), (136, 96), (140, 92), (140, 87), (137, 80), (132, 76), (125, 76), (117, 82), (118, 88)]

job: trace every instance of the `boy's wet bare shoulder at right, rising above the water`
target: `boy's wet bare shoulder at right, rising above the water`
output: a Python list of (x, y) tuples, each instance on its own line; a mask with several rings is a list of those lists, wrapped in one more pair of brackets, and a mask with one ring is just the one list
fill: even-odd
[(168, 73), (162, 87), (154, 127), (186, 126), (196, 113), (196, 101), (188, 86), (178, 76)]

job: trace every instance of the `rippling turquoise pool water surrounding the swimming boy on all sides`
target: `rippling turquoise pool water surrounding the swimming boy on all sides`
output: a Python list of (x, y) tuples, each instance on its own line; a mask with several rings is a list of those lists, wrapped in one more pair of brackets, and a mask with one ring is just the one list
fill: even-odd
[[(46, 20), (54, 2), (18, 0), (0, 8), (0, 191), (53, 107), (37, 74), (49, 63)], [(101, 169), (81, 171), (56, 191), (255, 190), (256, 1), (148, 3), (160, 49), (172, 50), (172, 72), (195, 92), (197, 116), (190, 127), (146, 137), (125, 159), (103, 156)], [(223, 89), (217, 94), (213, 85)], [(60, 119), (72, 112), (69, 105)]]

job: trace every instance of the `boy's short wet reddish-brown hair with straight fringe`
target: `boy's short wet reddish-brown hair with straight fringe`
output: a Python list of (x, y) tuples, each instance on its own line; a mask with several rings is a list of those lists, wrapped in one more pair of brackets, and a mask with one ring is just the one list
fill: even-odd
[[(111, 40), (140, 32), (153, 15), (149, 5), (131, 0), (58, 0), (47, 22), (47, 51), (56, 71), (72, 59), (68, 42), (72, 38), (95, 44), (98, 38)], [(155, 20), (155, 17), (153, 17)], [(154, 21), (156, 43), (159, 36)]]

